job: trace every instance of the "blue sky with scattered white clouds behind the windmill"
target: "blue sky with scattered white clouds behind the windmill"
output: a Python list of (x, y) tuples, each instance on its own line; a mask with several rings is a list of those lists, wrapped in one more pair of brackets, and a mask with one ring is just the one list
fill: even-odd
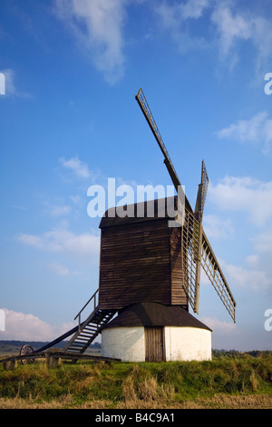
[(196, 317), (213, 348), (272, 350), (271, 20), (267, 0), (1, 1), (0, 340), (55, 339), (98, 289), (90, 187), (171, 184), (142, 88), (193, 207), (209, 174), (237, 322), (205, 273)]

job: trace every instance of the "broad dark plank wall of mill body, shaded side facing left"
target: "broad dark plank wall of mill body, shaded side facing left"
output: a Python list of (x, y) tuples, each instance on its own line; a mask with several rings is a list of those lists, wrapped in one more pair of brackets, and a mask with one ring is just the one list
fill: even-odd
[(159, 221), (102, 229), (99, 306), (170, 303), (169, 229)]

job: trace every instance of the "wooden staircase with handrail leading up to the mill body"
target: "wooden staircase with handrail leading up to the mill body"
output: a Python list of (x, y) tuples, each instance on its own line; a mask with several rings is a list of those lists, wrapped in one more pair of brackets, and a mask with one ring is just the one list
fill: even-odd
[[(64, 352), (83, 354), (92, 341), (102, 331), (102, 327), (112, 320), (116, 310), (101, 310), (96, 304), (96, 295), (98, 291), (93, 293), (90, 300), (85, 303), (82, 310), (75, 316), (78, 318), (79, 325), (77, 331), (73, 334), (71, 340), (65, 345)], [(93, 311), (89, 317), (81, 323), (81, 313), (84, 308), (93, 301)]]

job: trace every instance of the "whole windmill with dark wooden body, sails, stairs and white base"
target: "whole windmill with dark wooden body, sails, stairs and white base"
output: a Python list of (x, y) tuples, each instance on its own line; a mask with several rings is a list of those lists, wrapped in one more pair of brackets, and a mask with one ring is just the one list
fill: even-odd
[[(170, 160), (151, 109), (140, 89), (136, 100), (164, 157), (178, 196), (180, 179)], [(109, 209), (102, 217), (99, 289), (75, 316), (78, 325), (39, 350), (24, 346), (20, 357), (31, 358), (71, 337), (64, 353), (83, 354), (102, 334), (102, 357), (122, 361), (209, 360), (211, 330), (189, 313), (199, 313), (201, 269), (208, 275), (230, 317), (236, 302), (203, 230), (202, 218), (209, 178), (204, 161), (195, 209), (184, 196), (182, 223), (169, 227), (170, 215), (160, 215), (168, 199), (127, 206), (127, 214)], [(152, 204), (154, 215), (149, 215)], [(132, 214), (131, 214), (132, 212)], [(141, 213), (140, 215), (138, 213)], [(129, 214), (130, 213), (130, 214)], [(91, 313), (90, 313), (90, 306)], [(89, 315), (82, 321), (83, 312)]]

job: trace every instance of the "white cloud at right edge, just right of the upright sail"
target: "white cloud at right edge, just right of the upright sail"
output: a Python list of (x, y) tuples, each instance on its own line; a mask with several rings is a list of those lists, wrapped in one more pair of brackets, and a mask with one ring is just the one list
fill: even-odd
[(221, 211), (245, 212), (251, 223), (263, 226), (272, 218), (272, 182), (226, 176), (209, 184), (209, 201)]

